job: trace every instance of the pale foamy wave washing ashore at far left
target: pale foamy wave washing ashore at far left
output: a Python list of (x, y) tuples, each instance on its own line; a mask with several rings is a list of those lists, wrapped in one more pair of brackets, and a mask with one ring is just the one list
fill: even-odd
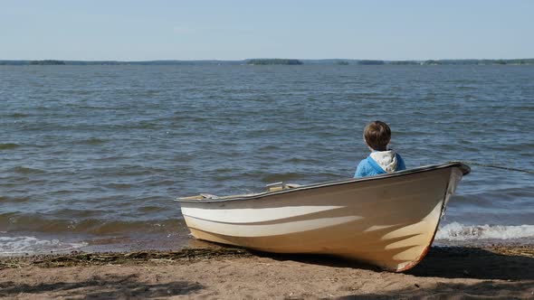
[(86, 242), (68, 243), (59, 239), (37, 239), (35, 237), (0, 237), (0, 256), (23, 253), (49, 253), (71, 251), (85, 247)]

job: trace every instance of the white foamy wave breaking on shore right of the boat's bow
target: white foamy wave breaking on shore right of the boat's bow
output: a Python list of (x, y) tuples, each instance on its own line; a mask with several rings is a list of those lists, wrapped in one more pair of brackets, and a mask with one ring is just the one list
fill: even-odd
[(534, 225), (463, 225), (453, 222), (440, 228), (435, 235), (435, 239), (445, 240), (526, 238), (534, 238)]

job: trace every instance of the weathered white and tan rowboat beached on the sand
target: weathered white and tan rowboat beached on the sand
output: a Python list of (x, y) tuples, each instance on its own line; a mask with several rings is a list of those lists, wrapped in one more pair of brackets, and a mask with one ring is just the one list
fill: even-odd
[(334, 255), (401, 272), (424, 258), (447, 202), (470, 171), (452, 162), (176, 201), (196, 239), (266, 252)]

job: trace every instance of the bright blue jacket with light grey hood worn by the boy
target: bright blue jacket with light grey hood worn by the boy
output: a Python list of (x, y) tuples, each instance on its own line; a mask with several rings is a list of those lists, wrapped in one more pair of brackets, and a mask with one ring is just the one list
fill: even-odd
[(401, 155), (395, 153), (395, 151), (373, 151), (366, 159), (358, 164), (354, 177), (393, 173), (405, 169), (405, 161)]

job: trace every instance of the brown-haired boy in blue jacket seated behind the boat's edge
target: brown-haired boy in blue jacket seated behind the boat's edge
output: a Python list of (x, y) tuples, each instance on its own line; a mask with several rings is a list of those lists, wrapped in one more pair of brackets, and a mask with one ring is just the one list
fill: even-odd
[(406, 169), (403, 158), (395, 151), (387, 150), (390, 140), (391, 129), (386, 123), (374, 121), (367, 124), (364, 129), (364, 142), (371, 150), (371, 154), (358, 164), (354, 173), (355, 178)]

